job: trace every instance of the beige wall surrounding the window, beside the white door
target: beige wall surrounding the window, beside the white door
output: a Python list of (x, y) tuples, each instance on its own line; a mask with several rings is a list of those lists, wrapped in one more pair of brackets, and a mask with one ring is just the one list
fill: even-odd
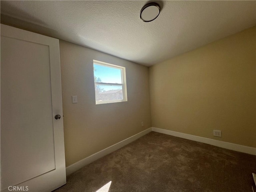
[[(126, 67), (127, 102), (95, 104), (93, 60)], [(63, 40), (60, 63), (66, 166), (151, 127), (148, 67)]]

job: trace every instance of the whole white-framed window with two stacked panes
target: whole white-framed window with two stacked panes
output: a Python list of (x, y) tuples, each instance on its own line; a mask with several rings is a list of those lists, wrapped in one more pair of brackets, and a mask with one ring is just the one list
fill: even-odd
[(96, 104), (127, 101), (125, 67), (93, 60)]

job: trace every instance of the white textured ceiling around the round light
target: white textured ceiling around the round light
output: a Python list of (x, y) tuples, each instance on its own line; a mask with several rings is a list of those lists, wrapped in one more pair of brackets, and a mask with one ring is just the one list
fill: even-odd
[(256, 25), (256, 1), (1, 1), (1, 23), (150, 66)]

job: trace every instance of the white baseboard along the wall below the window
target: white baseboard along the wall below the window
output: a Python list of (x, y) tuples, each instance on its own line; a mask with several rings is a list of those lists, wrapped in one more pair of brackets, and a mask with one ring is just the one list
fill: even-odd
[(114, 144), (114, 145), (112, 145), (112, 146), (110, 146), (110, 147), (108, 147), (104, 150), (101, 150), (101, 151), (99, 151), (95, 154), (92, 154), (91, 156), (88, 156), (88, 157), (86, 157), (86, 158), (84, 158), (84, 159), (66, 167), (66, 175), (68, 176), (68, 175), (72, 174), (76, 170), (79, 170), (80, 168), (90, 164), (91, 162), (94, 162), (97, 159), (102, 158), (103, 156), (106, 156), (107, 154), (110, 154), (110, 153), (122, 148), (123, 146), (126, 146), (127, 144), (129, 144), (129, 143), (135, 141), (136, 139), (148, 134), (151, 131), (152, 131), (152, 128), (148, 128), (148, 129), (146, 129), (146, 130), (144, 130), (144, 131), (142, 131), (142, 132), (140, 132), (140, 133), (138, 133), (134, 136), (131, 136), (131, 137), (129, 137), (129, 138), (123, 140), (123, 141), (120, 141), (120, 142), (118, 142), (118, 143), (116, 143), (116, 144)]

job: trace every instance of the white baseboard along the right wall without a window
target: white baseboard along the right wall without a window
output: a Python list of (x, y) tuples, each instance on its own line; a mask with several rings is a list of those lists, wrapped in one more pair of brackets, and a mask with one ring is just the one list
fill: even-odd
[(239, 151), (239, 152), (256, 155), (256, 148), (253, 148), (253, 147), (228, 143), (228, 142), (224, 142), (224, 141), (218, 141), (218, 140), (214, 140), (214, 139), (194, 136), (194, 135), (190, 135), (190, 134), (155, 128), (155, 127), (152, 127), (152, 131), (167, 134), (167, 135), (172, 135), (172, 136), (176, 136), (176, 137), (180, 137), (180, 138), (184, 138), (184, 139), (189, 139), (192, 141), (198, 141), (201, 143), (206, 143), (206, 144), (214, 145), (214, 146), (225, 148), (225, 149), (230, 149), (230, 150), (234, 150), (234, 151)]

